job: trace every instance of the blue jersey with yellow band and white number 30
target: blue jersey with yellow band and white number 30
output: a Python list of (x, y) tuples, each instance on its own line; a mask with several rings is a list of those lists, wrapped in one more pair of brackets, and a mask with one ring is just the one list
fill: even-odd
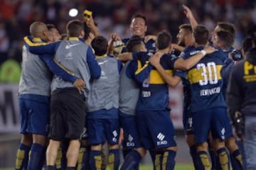
[[(203, 47), (187, 47), (183, 59), (196, 55)], [(220, 69), (225, 55), (218, 50), (206, 55), (187, 72), (191, 89), (191, 111), (203, 111), (210, 108), (226, 107), (222, 94), (223, 79)]]

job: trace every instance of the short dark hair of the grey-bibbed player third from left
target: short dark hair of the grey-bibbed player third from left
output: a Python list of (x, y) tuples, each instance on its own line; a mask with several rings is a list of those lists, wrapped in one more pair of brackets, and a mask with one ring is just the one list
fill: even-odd
[(101, 35), (93, 38), (91, 46), (95, 51), (95, 55), (102, 56), (107, 53), (107, 39)]

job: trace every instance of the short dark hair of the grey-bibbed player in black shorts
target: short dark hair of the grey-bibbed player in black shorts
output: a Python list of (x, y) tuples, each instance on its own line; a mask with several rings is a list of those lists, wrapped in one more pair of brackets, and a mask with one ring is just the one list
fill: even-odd
[(71, 20), (67, 24), (67, 34), (70, 37), (78, 37), (84, 29), (84, 24), (79, 20)]

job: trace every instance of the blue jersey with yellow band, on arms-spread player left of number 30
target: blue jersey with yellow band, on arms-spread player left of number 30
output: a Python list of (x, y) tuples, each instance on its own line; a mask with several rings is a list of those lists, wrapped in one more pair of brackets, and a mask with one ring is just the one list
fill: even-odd
[[(170, 110), (168, 84), (166, 84), (159, 72), (149, 64), (148, 60), (151, 55), (153, 55), (151, 52), (139, 52), (133, 54), (133, 59), (137, 60), (137, 71), (135, 72), (135, 76), (144, 72), (145, 69), (149, 70), (149, 72), (144, 72), (139, 76), (139, 79), (143, 81), (140, 81), (137, 111)], [(175, 61), (176, 57), (163, 55), (160, 64), (168, 74), (172, 75)]]

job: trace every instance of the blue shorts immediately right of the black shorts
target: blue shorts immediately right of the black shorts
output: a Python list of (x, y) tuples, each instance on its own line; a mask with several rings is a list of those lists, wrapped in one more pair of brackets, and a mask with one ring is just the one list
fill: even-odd
[(120, 136), (119, 119), (88, 118), (89, 145), (105, 143), (117, 145)]

